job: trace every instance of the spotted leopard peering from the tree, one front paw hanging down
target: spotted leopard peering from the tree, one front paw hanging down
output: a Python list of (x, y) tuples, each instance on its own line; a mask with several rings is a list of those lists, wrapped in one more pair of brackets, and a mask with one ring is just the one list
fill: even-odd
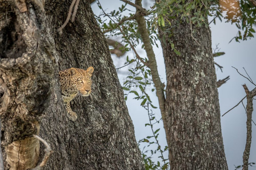
[(72, 111), (70, 102), (79, 95), (89, 96), (92, 92), (93, 67), (87, 70), (81, 68), (69, 68), (59, 72), (61, 96), (64, 101), (67, 117), (71, 121), (77, 120), (77, 113)]

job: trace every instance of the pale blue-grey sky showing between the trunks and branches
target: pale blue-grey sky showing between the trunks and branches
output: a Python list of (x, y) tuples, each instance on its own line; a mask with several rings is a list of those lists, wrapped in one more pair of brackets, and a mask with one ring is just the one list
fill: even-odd
[[(110, 1), (100, 0), (100, 3), (102, 5), (102, 8), (107, 12), (118, 9), (121, 4), (124, 4), (119, 0), (113, 0), (111, 1), (111, 3)], [(150, 1), (148, 1), (147, 4), (150, 5)], [(143, 2), (143, 5), (146, 5), (145, 2)], [(92, 4), (92, 9), (96, 15), (101, 12), (96, 3)], [(135, 11), (134, 7), (130, 7), (129, 9)], [(211, 20), (211, 18), (209, 18), (209, 20)], [(220, 48), (220, 52), (226, 53), (224, 56), (215, 58), (215, 62), (224, 67), (223, 73), (221, 73), (220, 69), (216, 69), (217, 79), (219, 80), (230, 76), (230, 80), (228, 80), (226, 84), (218, 88), (220, 109), (222, 115), (227, 110), (236, 105), (245, 96), (244, 89), (241, 86), (242, 84), (246, 83), (249, 90), (252, 90), (254, 88), (254, 86), (248, 80), (240, 76), (231, 66), (236, 67), (241, 73), (245, 75), (243, 71), (244, 67), (252, 80), (256, 82), (256, 39), (253, 38), (251, 40), (242, 41), (241, 43), (235, 41), (229, 43), (229, 41), (237, 34), (238, 29), (235, 27), (235, 25), (224, 22), (221, 23), (217, 20), (216, 25), (211, 23), (210, 27), (212, 31), (212, 47), (215, 48), (216, 44), (219, 44), (218, 47)], [(118, 40), (118, 38), (116, 40)], [(160, 47), (160, 42), (158, 42), (158, 45)], [(140, 46), (137, 48), (137, 52), (140, 55), (146, 55)], [(162, 78), (162, 81), (166, 82), (165, 66), (161, 47), (157, 48), (156, 46), (154, 46), (154, 52), (156, 54), (159, 74)], [(125, 57), (123, 58), (117, 58), (115, 55), (112, 56), (116, 68), (124, 64), (127, 55), (129, 55), (130, 58), (133, 57), (132, 52), (127, 52)], [(132, 65), (129, 65), (128, 67), (132, 67)], [(118, 70), (118, 77), (121, 85), (123, 85), (123, 78), (127, 76), (127, 69), (128, 68), (125, 67), (121, 70)], [(146, 110), (144, 110), (140, 106), (140, 102), (138, 102), (137, 100), (133, 100), (133, 97), (134, 96), (132, 94), (129, 94), (126, 103), (135, 127), (135, 137), (138, 141), (139, 139), (142, 139), (146, 136), (152, 136), (152, 132), (149, 126), (145, 127), (145, 124), (149, 122)], [(158, 101), (154, 93), (151, 94), (151, 99), (154, 105), (158, 106)], [(244, 104), (246, 105), (246, 100), (244, 100)], [(255, 100), (254, 104), (256, 104)], [(256, 110), (256, 107), (254, 108)], [(160, 110), (157, 108), (154, 109), (153, 112), (155, 113), (156, 118), (159, 119), (161, 115)], [(256, 122), (255, 112), (253, 113), (252, 119)], [(160, 145), (164, 147), (166, 145), (166, 139), (164, 135), (163, 124), (160, 123), (154, 125), (155, 130), (158, 128), (161, 128), (161, 130), (159, 131), (159, 142)], [(238, 166), (242, 165), (243, 163), (242, 156), (246, 142), (246, 114), (242, 105), (239, 105), (238, 107), (227, 113), (227, 115), (221, 117), (221, 128), (228, 167), (230, 170), (232, 170), (235, 169), (234, 164)], [(255, 142), (256, 126), (253, 124), (252, 145), (249, 162), (256, 163)], [(156, 146), (152, 146), (152, 148), (156, 148)], [(167, 154), (168, 153), (164, 153), (166, 158), (168, 157)], [(153, 160), (157, 161), (159, 160), (159, 158), (155, 156)], [(256, 168), (249, 167), (249, 169), (254, 170)]]

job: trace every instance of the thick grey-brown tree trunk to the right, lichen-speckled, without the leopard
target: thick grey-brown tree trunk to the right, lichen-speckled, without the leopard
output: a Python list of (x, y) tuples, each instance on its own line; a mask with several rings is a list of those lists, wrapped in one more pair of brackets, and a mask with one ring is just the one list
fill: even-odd
[(166, 65), (172, 169), (227, 169), (210, 28), (192, 25), (199, 45), (190, 36), (190, 23), (170, 21), (172, 26), (164, 29), (171, 31), (160, 31), (160, 37)]

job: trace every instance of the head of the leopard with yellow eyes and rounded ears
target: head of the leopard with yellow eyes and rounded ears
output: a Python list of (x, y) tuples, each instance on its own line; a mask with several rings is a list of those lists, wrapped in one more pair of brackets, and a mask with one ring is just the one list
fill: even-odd
[(71, 85), (73, 89), (76, 89), (83, 96), (89, 96), (92, 92), (91, 76), (94, 71), (93, 67), (89, 67), (86, 71), (80, 68), (70, 68), (69, 75), (71, 80)]

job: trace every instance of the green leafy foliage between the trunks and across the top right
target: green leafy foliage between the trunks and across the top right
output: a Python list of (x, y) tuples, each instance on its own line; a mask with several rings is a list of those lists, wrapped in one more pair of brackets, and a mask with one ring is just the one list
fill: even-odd
[[(230, 0), (220, 0), (224, 4), (229, 4)], [(233, 0), (238, 1), (238, 0)], [(141, 139), (138, 144), (148, 143), (149, 145), (157, 145), (156, 150), (145, 150), (142, 151), (142, 157), (146, 166), (146, 169), (168, 169), (167, 159), (161, 157), (162, 162), (152, 161), (152, 157), (157, 152), (161, 154), (168, 150), (167, 146), (161, 149), (158, 144), (158, 131), (153, 130), (152, 121), (159, 123), (161, 120), (156, 120), (154, 115), (149, 113), (149, 105), (152, 108), (156, 108), (150, 97), (149, 93), (154, 92), (154, 86), (151, 79), (150, 69), (144, 65), (148, 62), (147, 56), (139, 56), (136, 49), (140, 48), (140, 43), (142, 42), (141, 35), (138, 33), (138, 23), (135, 20), (136, 14), (134, 11), (127, 7), (127, 4), (121, 5), (118, 9), (105, 12), (99, 3), (96, 1), (99, 8), (102, 9), (102, 13), (99, 16), (95, 16), (100, 28), (106, 37), (120, 37), (121, 43), (124, 47), (121, 49), (123, 51), (133, 51), (133, 56), (127, 56), (124, 66), (133, 65), (133, 68), (128, 69), (129, 73), (123, 81), (123, 90), (125, 95), (125, 100), (129, 94), (135, 96), (133, 99), (139, 100), (140, 105), (148, 111), (149, 123), (145, 126), (149, 126), (152, 129), (152, 136), (147, 136)], [(224, 6), (218, 4), (219, 1), (216, 0), (158, 0), (155, 4), (152, 4), (150, 10), (147, 10), (146, 16), (144, 17), (147, 24), (147, 31), (149, 33), (150, 41), (152, 45), (156, 43), (159, 39), (157, 35), (157, 28), (162, 28), (163, 31), (168, 32), (169, 36), (172, 36), (173, 29), (181, 22), (187, 22), (191, 24), (191, 27), (201, 27), (202, 25), (209, 26), (208, 16), (213, 16), (214, 19), (211, 21), (216, 24), (216, 19), (225, 20), (226, 22), (231, 22), (235, 24), (238, 28), (238, 35), (234, 37), (236, 41), (246, 40), (247, 38), (253, 37), (255, 30), (252, 25), (256, 21), (256, 9), (248, 0), (240, 0), (239, 9), (236, 12), (240, 12), (236, 18), (223, 16), (225, 11)], [(226, 10), (227, 11), (227, 10)], [(129, 13), (125, 15), (124, 13)], [(228, 11), (227, 14), (232, 12)], [(171, 22), (174, 21), (174, 22)], [(210, 22), (210, 23), (211, 23)], [(175, 25), (171, 25), (175, 23)], [(193, 30), (193, 32), (196, 30)], [(192, 31), (191, 31), (192, 32)], [(192, 34), (192, 33), (191, 33)], [(171, 44), (171, 48), (177, 55), (181, 55), (179, 51), (175, 49), (174, 43), (170, 37), (162, 37), (163, 39), (168, 39), (168, 43)], [(166, 41), (163, 41), (166, 43)], [(145, 49), (144, 44), (142, 44), (141, 49)], [(218, 53), (218, 52), (217, 52)], [(216, 55), (217, 55), (216, 53)], [(222, 53), (218, 53), (221, 55)], [(119, 68), (117, 68), (119, 69)], [(149, 90), (150, 89), (150, 90)], [(148, 146), (149, 146), (148, 145)]]

